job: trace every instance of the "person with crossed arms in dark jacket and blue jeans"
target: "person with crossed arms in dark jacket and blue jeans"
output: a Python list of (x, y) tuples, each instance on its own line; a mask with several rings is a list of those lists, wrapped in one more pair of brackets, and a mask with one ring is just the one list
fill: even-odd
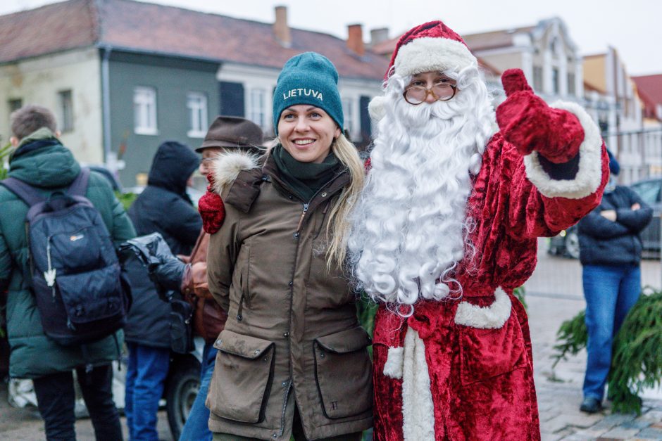
[(588, 331), (584, 400), (580, 410), (601, 409), (611, 366), (611, 346), (623, 319), (639, 299), (642, 238), (653, 210), (626, 186), (616, 185), (618, 162), (609, 153), (611, 177), (601, 203), (578, 224)]

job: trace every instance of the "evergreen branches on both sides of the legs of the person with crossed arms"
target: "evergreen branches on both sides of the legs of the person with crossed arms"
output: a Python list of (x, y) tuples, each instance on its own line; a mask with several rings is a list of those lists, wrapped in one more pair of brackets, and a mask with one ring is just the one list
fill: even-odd
[[(587, 330), (582, 311), (564, 321), (556, 333), (560, 343), (554, 366), (567, 355), (586, 347)], [(662, 385), (662, 291), (644, 289), (623, 321), (613, 342), (608, 396), (615, 412), (641, 414), (643, 388)]]

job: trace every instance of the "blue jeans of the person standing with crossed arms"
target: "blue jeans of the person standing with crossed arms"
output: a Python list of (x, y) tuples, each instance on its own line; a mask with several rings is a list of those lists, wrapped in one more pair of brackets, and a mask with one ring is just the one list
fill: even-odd
[(639, 265), (585, 265), (582, 279), (588, 331), (584, 397), (602, 400), (611, 366), (611, 345), (642, 292)]

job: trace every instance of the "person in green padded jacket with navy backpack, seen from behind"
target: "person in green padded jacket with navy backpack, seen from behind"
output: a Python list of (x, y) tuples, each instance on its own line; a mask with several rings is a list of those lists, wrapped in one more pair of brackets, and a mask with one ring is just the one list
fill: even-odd
[(15, 151), (0, 186), (9, 375), (32, 378), (46, 439), (75, 440), (75, 369), (96, 439), (122, 440), (111, 362), (128, 305), (115, 247), (135, 229), (108, 180), (58, 140), (50, 110), (25, 106), (10, 120)]

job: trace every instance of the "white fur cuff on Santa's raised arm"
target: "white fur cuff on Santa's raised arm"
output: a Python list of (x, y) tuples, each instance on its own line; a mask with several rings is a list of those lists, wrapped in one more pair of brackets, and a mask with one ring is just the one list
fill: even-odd
[(548, 198), (581, 199), (595, 193), (602, 181), (602, 138), (586, 110), (577, 103), (558, 101), (551, 107), (568, 110), (584, 129), (584, 141), (579, 149), (579, 170), (574, 179), (551, 179), (544, 171), (537, 152), (524, 157), (527, 178)]

